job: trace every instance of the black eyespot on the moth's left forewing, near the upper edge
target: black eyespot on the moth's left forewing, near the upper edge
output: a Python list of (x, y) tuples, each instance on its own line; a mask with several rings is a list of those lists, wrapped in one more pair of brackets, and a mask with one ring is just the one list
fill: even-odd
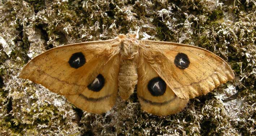
[(82, 52), (74, 53), (69, 58), (69, 65), (75, 69), (78, 69), (79, 67), (83, 66), (85, 62), (86, 59)]

